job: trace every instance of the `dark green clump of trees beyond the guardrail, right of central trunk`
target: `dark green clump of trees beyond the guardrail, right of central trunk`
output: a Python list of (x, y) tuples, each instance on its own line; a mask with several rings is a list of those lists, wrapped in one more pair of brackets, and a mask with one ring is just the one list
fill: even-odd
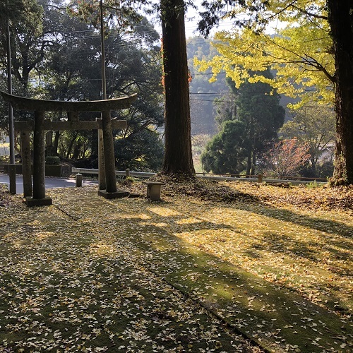
[[(271, 77), (270, 71), (266, 76)], [(277, 138), (285, 121), (285, 109), (279, 104), (280, 96), (270, 94), (268, 83), (246, 80), (237, 89), (229, 80), (229, 86), (234, 102), (228, 103), (229, 109), (218, 110), (220, 132), (206, 146), (202, 161), (207, 172), (239, 174), (244, 170), (249, 176), (255, 172), (258, 155)]]

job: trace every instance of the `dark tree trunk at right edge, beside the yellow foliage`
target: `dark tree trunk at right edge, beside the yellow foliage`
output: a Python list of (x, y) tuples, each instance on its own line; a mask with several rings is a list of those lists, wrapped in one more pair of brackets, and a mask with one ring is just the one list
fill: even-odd
[(353, 6), (352, 0), (328, 0), (335, 55), (336, 150), (331, 184), (353, 184)]

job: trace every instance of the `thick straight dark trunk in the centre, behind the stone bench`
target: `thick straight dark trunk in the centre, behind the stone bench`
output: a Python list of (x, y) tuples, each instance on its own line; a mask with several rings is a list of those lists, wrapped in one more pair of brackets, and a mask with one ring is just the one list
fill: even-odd
[(193, 177), (184, 1), (161, 0), (161, 17), (165, 99), (162, 174)]

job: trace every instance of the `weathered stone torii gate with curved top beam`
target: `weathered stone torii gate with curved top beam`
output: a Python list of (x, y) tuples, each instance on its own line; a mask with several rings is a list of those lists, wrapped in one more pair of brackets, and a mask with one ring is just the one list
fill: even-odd
[[(1, 91), (0, 91), (1, 92)], [(35, 112), (34, 121), (18, 121), (14, 123), (16, 131), (21, 132), (21, 152), (23, 157), (23, 191), (25, 202), (28, 206), (51, 205), (52, 199), (45, 196), (45, 143), (44, 131), (46, 130), (95, 130), (102, 129), (103, 153), (105, 174), (105, 190), (98, 194), (104, 198), (118, 198), (127, 195), (126, 191), (116, 189), (113, 128), (126, 128), (126, 120), (111, 119), (112, 110), (127, 109), (136, 100), (137, 95), (116, 98), (113, 100), (95, 101), (54, 101), (35, 100), (18, 97), (1, 92), (4, 100), (11, 102), (15, 109), (30, 110)], [(45, 119), (45, 112), (67, 112), (68, 121), (50, 121)], [(102, 112), (102, 119), (96, 121), (80, 121), (78, 112)], [(30, 137), (29, 132), (34, 131), (33, 138), (33, 193), (30, 166)], [(103, 159), (102, 158), (102, 159)], [(100, 171), (102, 172), (102, 171)]]

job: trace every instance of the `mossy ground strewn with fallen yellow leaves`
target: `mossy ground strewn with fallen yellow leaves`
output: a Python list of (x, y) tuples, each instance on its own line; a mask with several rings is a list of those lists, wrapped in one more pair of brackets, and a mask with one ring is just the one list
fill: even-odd
[(353, 188), (0, 189), (0, 352), (352, 352)]

